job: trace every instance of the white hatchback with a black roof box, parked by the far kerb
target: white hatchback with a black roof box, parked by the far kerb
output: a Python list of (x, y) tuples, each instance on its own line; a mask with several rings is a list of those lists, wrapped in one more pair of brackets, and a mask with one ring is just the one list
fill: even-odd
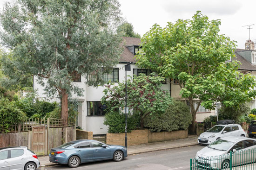
[(244, 132), (241, 125), (234, 124), (233, 120), (222, 120), (218, 121), (216, 126), (213, 126), (208, 131), (203, 132), (198, 137), (198, 143), (208, 145), (216, 141), (217, 139), (228, 136), (245, 137), (246, 133)]

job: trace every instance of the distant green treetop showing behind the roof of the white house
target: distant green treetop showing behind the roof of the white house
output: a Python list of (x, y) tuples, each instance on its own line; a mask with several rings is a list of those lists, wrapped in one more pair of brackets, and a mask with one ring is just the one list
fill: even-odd
[(134, 38), (141, 38), (141, 35), (134, 32), (133, 25), (128, 22), (124, 22), (118, 26), (117, 33), (124, 37), (134, 37)]

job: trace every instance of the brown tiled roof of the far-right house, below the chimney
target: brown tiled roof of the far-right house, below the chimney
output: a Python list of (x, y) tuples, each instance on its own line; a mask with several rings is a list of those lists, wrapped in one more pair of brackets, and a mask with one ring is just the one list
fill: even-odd
[[(248, 50), (245, 50), (245, 49), (236, 49), (235, 50), (236, 57), (233, 58), (233, 60), (237, 60), (241, 63), (240, 64), (240, 70), (256, 71), (256, 65), (255, 64), (250, 63), (245, 58), (243, 58), (242, 56), (237, 54), (237, 52), (240, 52), (240, 51), (248, 51)], [(255, 50), (253, 50), (253, 51), (255, 51)]]

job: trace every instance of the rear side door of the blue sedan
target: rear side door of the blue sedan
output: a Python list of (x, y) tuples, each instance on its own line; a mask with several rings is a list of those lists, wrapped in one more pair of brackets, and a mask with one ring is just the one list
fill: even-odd
[(81, 162), (88, 162), (94, 158), (94, 148), (90, 147), (89, 142), (84, 142), (76, 146), (77, 153), (81, 156)]

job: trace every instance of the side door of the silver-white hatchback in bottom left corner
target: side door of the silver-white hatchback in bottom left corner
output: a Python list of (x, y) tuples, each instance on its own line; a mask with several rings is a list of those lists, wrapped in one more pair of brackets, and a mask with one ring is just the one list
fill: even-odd
[(27, 163), (27, 154), (23, 149), (10, 150), (9, 170), (23, 170)]

